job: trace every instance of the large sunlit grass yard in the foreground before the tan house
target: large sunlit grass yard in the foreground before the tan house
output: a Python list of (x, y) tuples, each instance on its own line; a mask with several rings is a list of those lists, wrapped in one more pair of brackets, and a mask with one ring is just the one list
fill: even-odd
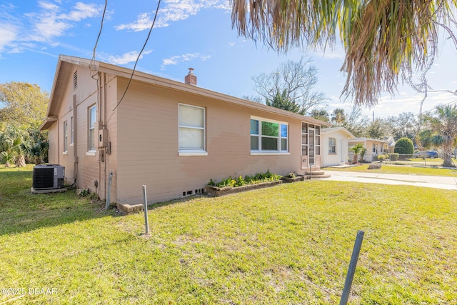
[(350, 304), (457, 304), (455, 191), (302, 181), (156, 204), (145, 236), (30, 186), (0, 167), (0, 304), (338, 304), (358, 229)]

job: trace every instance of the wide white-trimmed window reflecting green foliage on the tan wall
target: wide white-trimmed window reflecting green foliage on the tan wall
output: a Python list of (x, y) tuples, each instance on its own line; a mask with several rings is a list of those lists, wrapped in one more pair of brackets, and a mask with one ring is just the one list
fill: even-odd
[(251, 152), (288, 152), (288, 124), (251, 118)]

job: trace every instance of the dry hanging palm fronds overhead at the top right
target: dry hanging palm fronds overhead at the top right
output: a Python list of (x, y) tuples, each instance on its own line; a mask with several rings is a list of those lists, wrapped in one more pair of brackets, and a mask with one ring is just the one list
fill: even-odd
[(233, 0), (231, 19), (238, 34), (284, 52), (297, 46), (325, 49), (341, 37), (343, 94), (373, 106), (381, 91), (394, 93), (402, 68), (421, 68), (434, 56), (438, 27), (457, 44), (446, 26), (456, 8), (457, 0)]

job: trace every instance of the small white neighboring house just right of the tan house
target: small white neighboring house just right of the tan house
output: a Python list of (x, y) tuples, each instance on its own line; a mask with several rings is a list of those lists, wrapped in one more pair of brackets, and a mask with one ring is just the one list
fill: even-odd
[(348, 162), (348, 140), (356, 136), (344, 127), (321, 129), (321, 166), (334, 166)]

